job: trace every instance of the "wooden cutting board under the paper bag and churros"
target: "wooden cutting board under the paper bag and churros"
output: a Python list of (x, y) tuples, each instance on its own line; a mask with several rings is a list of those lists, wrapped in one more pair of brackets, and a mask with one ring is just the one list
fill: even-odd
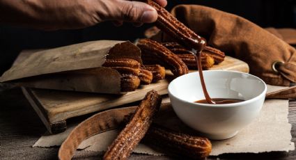
[[(22, 55), (26, 55), (26, 53)], [(19, 61), (20, 58), (18, 58), (17, 61)], [(236, 58), (226, 56), (224, 62), (215, 65), (210, 70), (236, 70), (240, 72), (249, 72), (249, 66), (247, 63), (237, 60)], [(196, 72), (196, 70), (190, 72)], [(149, 90), (157, 90), (161, 95), (167, 94), (170, 74), (171, 73), (168, 72), (168, 79), (141, 86), (139, 89), (125, 95), (78, 93), (36, 88), (22, 88), (22, 91), (47, 127), (48, 131), (51, 134), (56, 134), (65, 131), (66, 120), (68, 118), (111, 109), (112, 107), (129, 104), (131, 102), (137, 102), (143, 99)]]

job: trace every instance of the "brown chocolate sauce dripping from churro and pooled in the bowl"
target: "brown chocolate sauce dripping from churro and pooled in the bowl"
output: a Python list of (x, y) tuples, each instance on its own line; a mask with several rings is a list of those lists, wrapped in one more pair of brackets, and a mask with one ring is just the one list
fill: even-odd
[(205, 103), (206, 102), (206, 104), (232, 104), (232, 103), (243, 101), (240, 99), (224, 99), (224, 98), (212, 99), (210, 97), (210, 95), (208, 94), (208, 90), (205, 87), (205, 80), (203, 79), (203, 68), (201, 67), (201, 50), (196, 51), (196, 53), (194, 53), (194, 57), (196, 59), (196, 63), (197, 63), (197, 67), (198, 67), (199, 78), (201, 79), (201, 86), (203, 88), (203, 95), (205, 96), (205, 99), (198, 100), (198, 101), (196, 101), (196, 103)]

